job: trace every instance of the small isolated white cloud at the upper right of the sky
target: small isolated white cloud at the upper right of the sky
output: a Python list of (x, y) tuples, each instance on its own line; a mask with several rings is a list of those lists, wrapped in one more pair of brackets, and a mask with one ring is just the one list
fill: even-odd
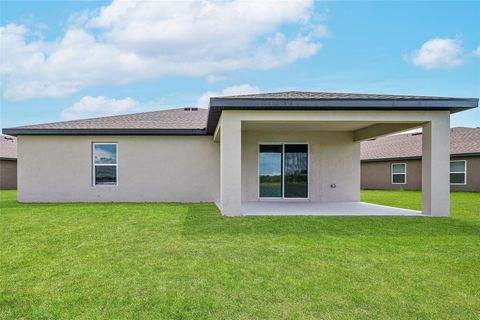
[(464, 63), (463, 49), (457, 39), (431, 39), (416, 50), (411, 60), (425, 69), (441, 69), (458, 67)]

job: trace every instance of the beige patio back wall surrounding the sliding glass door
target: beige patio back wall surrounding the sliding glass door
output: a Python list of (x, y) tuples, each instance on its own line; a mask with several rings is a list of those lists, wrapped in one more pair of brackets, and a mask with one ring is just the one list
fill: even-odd
[(359, 201), (360, 143), (351, 132), (332, 131), (243, 131), (242, 201), (258, 200), (258, 145), (271, 142), (309, 144), (311, 201)]

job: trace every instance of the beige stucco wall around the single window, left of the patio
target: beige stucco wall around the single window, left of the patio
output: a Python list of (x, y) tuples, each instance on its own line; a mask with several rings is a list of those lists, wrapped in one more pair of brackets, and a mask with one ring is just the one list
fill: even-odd
[[(92, 186), (92, 142), (118, 143), (118, 186)], [(219, 199), (211, 136), (20, 136), (21, 202), (202, 202)]]

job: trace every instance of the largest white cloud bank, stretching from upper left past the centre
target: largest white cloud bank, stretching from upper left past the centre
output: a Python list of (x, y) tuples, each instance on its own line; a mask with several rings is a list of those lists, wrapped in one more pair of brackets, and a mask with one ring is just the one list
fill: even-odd
[[(313, 0), (117, 0), (73, 15), (65, 34), (49, 42), (24, 26), (2, 26), (3, 95), (61, 97), (166, 75), (212, 81), (236, 70), (289, 64), (321, 47), (317, 38), (326, 29), (310, 22), (313, 6)], [(297, 33), (279, 33), (285, 24)]]

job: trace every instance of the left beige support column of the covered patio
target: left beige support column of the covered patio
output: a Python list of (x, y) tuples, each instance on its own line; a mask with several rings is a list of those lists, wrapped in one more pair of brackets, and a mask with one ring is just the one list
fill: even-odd
[(220, 201), (225, 216), (236, 217), (242, 206), (242, 126), (227, 112), (220, 127)]

